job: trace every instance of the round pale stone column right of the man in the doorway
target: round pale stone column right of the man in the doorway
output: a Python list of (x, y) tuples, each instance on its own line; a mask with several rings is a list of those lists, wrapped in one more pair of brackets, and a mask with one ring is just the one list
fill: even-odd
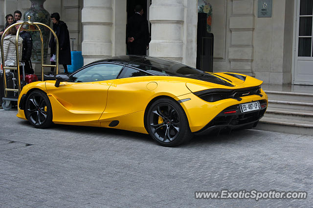
[(152, 0), (150, 56), (182, 62), (184, 10), (184, 0)]

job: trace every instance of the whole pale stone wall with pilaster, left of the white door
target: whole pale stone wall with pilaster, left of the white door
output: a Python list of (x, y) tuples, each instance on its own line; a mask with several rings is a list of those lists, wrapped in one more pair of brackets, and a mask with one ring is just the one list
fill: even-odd
[[(214, 72), (238, 72), (255, 76), (264, 83), (290, 84), (294, 1), (273, 0), (271, 18), (257, 17), (257, 0), (211, 0), (210, 3)], [(223, 16), (215, 14), (217, 7), (225, 8)]]

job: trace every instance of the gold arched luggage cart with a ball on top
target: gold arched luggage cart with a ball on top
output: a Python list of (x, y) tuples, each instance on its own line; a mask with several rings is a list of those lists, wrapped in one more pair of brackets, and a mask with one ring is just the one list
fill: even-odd
[[(20, 30), (24, 25), (28, 25), (27, 29), (22, 29), (24, 31), (39, 31), (40, 33), (40, 39), (41, 39), (41, 75), (42, 75), (42, 81), (44, 81), (44, 67), (55, 67), (56, 68), (56, 74), (58, 74), (58, 70), (59, 70), (59, 40), (57, 35), (55, 34), (55, 32), (47, 25), (40, 23), (40, 22), (31, 22), (30, 21), (30, 16), (27, 17), (28, 21), (24, 21), (24, 22), (18, 22), (15, 24), (10, 25), (8, 28), (6, 28), (2, 34), (1, 37), (1, 63), (2, 63), (2, 69), (3, 69), (3, 84), (4, 84), (4, 97), (2, 97), (2, 108), (4, 110), (10, 110), (12, 108), (12, 103), (13, 104), (17, 104), (17, 101), (19, 99), (19, 95), (21, 93), (22, 90), (22, 86), (21, 86), (21, 67), (20, 67), (20, 58), (19, 57), (19, 46), (18, 46), (18, 41), (19, 41), (19, 36), (20, 36)], [(3, 39), (5, 37), (5, 35), (7, 34), (7, 31), (12, 28), (15, 27), (17, 25), (21, 25), (20, 28), (18, 29), (18, 32), (16, 34), (16, 60), (15, 60), (15, 64), (17, 66), (10, 66), (7, 67), (5, 66), (5, 60), (4, 60), (4, 54), (3, 54)], [(44, 26), (46, 28), (48, 28), (51, 33), (53, 34), (55, 40), (56, 40), (56, 62), (55, 65), (50, 65), (50, 64), (45, 64), (44, 63), (44, 39), (43, 39), (43, 34), (42, 31), (39, 27), (39, 25)], [(6, 75), (5, 75), (5, 70), (11, 70), (13, 72), (15, 72), (15, 74), (17, 75), (15, 78), (15, 80), (17, 80), (17, 87), (16, 88), (7, 88), (7, 79), (6, 79)], [(8, 92), (13, 92), (11, 93), (11, 95), (8, 95)]]

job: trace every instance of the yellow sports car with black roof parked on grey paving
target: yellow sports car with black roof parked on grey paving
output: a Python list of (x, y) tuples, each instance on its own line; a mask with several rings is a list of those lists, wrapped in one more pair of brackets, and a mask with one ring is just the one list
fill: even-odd
[(252, 128), (268, 105), (258, 79), (147, 56), (111, 57), (55, 79), (23, 87), (19, 118), (36, 128), (55, 123), (149, 133), (163, 146), (193, 134)]

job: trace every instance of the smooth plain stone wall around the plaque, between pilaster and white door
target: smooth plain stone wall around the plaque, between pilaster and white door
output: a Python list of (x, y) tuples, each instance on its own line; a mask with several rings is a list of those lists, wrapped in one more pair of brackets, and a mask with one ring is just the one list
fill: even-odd
[(264, 83), (291, 83), (293, 5), (273, 0), (272, 17), (255, 19), (253, 71)]

